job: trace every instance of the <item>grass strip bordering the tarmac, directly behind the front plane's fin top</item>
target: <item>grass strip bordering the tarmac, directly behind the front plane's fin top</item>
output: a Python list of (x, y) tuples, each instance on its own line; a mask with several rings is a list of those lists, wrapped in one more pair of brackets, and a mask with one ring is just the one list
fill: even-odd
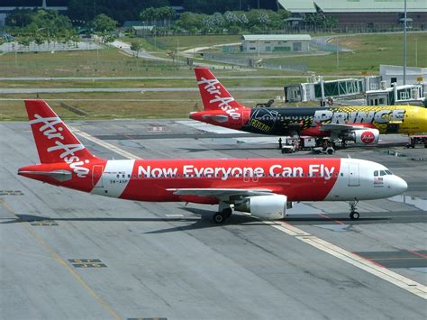
[[(276, 96), (283, 96), (283, 90), (277, 91), (232, 91), (232, 95), (244, 105), (256, 105), (267, 102)], [(0, 95), (0, 121), (27, 121), (23, 101), (5, 99), (31, 99), (36, 95), (16, 94)], [(194, 92), (130, 92), (130, 93), (68, 93), (40, 94), (64, 119), (114, 119), (114, 118), (186, 118), (194, 111), (194, 105), (202, 105), (200, 95)], [(64, 102), (86, 111), (81, 116), (60, 107)]]

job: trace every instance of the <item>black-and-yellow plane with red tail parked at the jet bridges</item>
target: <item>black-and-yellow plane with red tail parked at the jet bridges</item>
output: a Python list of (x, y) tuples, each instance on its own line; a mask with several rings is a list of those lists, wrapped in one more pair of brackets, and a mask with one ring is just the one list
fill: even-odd
[(238, 103), (210, 69), (196, 67), (203, 111), (190, 118), (249, 133), (331, 137), (377, 144), (379, 134), (427, 133), (427, 109), (415, 105), (250, 108)]

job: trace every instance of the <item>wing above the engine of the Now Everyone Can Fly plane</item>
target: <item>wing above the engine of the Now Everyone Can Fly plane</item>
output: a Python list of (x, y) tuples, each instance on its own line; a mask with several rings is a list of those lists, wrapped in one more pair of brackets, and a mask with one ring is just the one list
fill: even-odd
[(252, 197), (252, 196), (268, 196), (273, 195), (273, 191), (269, 189), (232, 189), (232, 188), (172, 188), (168, 191), (173, 191), (177, 196), (198, 196), (198, 197)]

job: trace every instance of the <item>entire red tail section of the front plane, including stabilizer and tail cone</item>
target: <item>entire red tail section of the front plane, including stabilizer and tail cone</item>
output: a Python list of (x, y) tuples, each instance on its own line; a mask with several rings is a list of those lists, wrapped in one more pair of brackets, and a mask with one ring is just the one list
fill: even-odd
[(18, 174), (56, 186), (90, 192), (107, 160), (96, 158), (42, 100), (25, 101), (41, 163), (18, 169)]

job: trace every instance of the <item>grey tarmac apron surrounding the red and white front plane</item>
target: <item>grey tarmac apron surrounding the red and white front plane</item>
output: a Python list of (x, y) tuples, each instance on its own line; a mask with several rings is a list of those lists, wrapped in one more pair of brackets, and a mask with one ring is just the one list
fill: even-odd
[[(123, 159), (121, 151), (146, 159), (284, 157), (272, 138), (233, 138), (185, 120), (68, 124), (90, 137), (141, 138), (80, 137), (108, 159)], [(350, 221), (347, 203), (298, 204), (280, 225), (310, 234), (304, 238), (240, 213), (215, 225), (215, 206), (137, 203), (19, 177), (20, 166), (38, 162), (30, 127), (0, 123), (0, 318), (425, 319), (425, 298), (307, 240), (427, 285), (426, 162), (412, 160), (427, 152), (390, 150), (405, 157), (385, 148), (335, 157), (385, 164), (408, 182), (404, 197), (360, 202), (359, 221)]]

